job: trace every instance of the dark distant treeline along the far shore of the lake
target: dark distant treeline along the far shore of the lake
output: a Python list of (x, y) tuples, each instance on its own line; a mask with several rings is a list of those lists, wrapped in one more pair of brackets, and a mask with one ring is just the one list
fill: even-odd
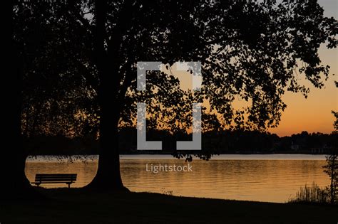
[[(165, 130), (149, 130), (148, 141), (162, 141), (162, 151), (136, 150), (136, 129), (127, 127), (119, 132), (118, 143), (111, 143), (113, 150), (117, 145), (121, 154), (173, 154), (177, 141), (191, 141), (191, 134), (170, 134)], [(337, 147), (338, 134), (302, 132), (290, 137), (257, 131), (220, 131), (205, 132), (202, 137), (203, 151), (210, 154), (270, 154), (301, 153), (326, 154)], [(68, 138), (63, 136), (31, 137), (25, 141), (29, 154), (98, 154), (96, 137)]]

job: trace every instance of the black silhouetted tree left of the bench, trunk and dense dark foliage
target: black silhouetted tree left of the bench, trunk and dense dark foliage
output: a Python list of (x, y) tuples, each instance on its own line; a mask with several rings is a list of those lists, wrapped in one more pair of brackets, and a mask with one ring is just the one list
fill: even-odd
[[(85, 127), (81, 124), (78, 130), (74, 114), (87, 108), (91, 108), (96, 119), (96, 107), (88, 105), (90, 101), (86, 99), (92, 92), (86, 89), (81, 76), (76, 76), (91, 71), (83, 69), (84, 55), (88, 55), (88, 48), (83, 48), (86, 41), (84, 38), (74, 41), (81, 33), (73, 35), (71, 23), (58, 18), (63, 9), (62, 5), (52, 7), (47, 2), (19, 1), (9, 7), (14, 28), (9, 32), (11, 50), (5, 65), (13, 74), (4, 77), (6, 92), (2, 96), (8, 108), (4, 111), (6, 131), (2, 135), (1, 158), (10, 162), (3, 163), (6, 166), (1, 169), (6, 184), (1, 184), (4, 190), (0, 198), (40, 197), (25, 175), (26, 137), (43, 132), (83, 132)], [(74, 57), (81, 53), (80, 57)], [(91, 119), (87, 117), (88, 121)]]

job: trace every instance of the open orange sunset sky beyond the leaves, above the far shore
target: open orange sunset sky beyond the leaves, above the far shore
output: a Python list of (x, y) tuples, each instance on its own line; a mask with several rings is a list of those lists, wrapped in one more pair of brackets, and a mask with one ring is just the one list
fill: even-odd
[[(325, 16), (338, 18), (337, 0), (319, 0), (319, 4), (324, 7)], [(283, 137), (302, 131), (309, 133), (331, 133), (333, 131), (334, 116), (331, 112), (332, 110), (338, 111), (338, 90), (334, 85), (334, 80), (338, 80), (338, 50), (337, 48), (328, 50), (323, 44), (319, 48), (319, 56), (323, 65), (331, 67), (329, 79), (324, 82), (324, 87), (317, 89), (305, 80), (304, 76), (299, 76), (299, 83), (310, 88), (307, 99), (301, 93), (286, 92), (283, 100), (287, 108), (282, 114), (279, 127), (269, 129), (270, 132)], [(173, 75), (180, 79), (181, 87), (191, 88), (190, 75), (178, 73), (175, 70), (173, 70)], [(237, 101), (235, 105), (237, 104), (242, 105), (243, 102)]]

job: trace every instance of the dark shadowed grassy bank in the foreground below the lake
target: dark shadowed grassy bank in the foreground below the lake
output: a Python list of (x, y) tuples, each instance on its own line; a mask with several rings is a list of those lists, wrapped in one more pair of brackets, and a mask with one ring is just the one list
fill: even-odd
[(0, 203), (0, 223), (337, 223), (337, 206), (39, 189), (48, 201)]

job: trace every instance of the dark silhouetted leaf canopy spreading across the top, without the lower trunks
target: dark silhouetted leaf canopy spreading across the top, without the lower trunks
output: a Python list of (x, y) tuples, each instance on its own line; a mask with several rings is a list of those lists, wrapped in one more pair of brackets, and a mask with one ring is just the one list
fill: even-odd
[[(14, 41), (24, 60), (24, 130), (117, 129), (113, 114), (119, 125), (135, 124), (136, 102), (148, 103), (150, 127), (171, 132), (191, 124), (192, 102), (210, 105), (205, 129), (276, 127), (285, 91), (309, 92), (298, 78), (320, 88), (329, 75), (318, 49), (337, 47), (338, 26), (323, 12), (315, 0), (19, 1)], [(177, 78), (158, 72), (138, 92), (139, 61), (200, 61), (203, 87), (180, 90)], [(247, 106), (235, 108), (236, 97)]]

